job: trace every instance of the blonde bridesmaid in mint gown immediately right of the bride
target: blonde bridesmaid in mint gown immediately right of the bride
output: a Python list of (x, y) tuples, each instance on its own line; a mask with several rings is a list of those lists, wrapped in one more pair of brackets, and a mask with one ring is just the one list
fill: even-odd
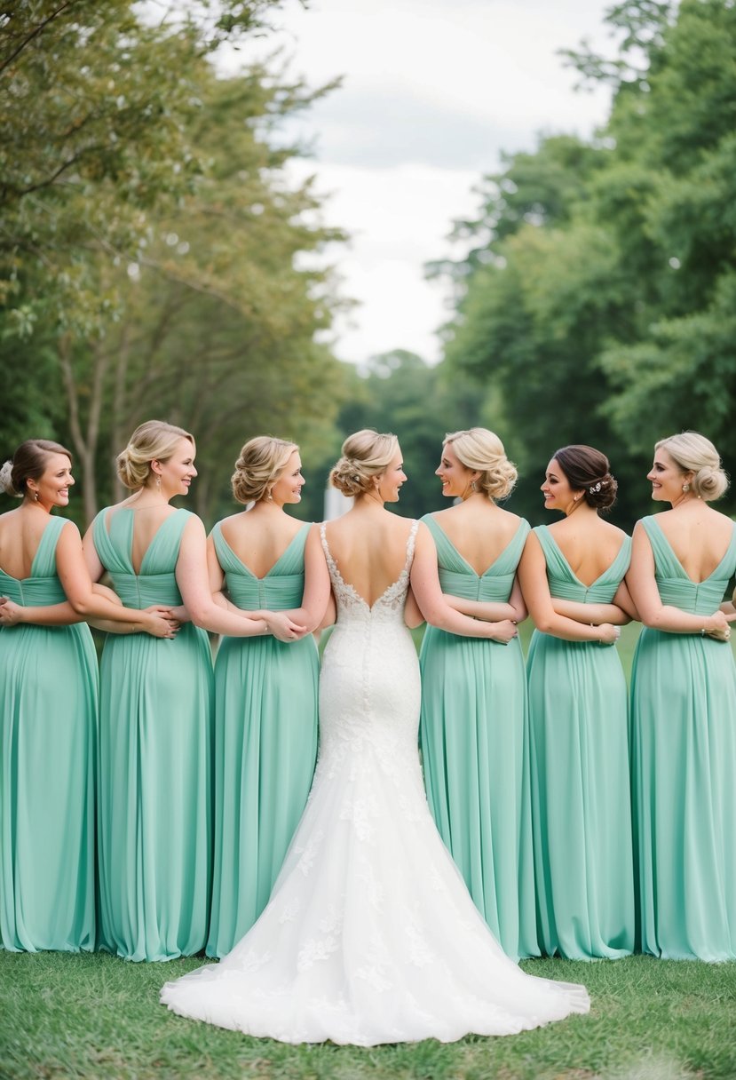
[[(426, 629), (420, 654), (424, 782), (476, 907), (506, 955), (518, 959), (539, 955), (527, 678), (521, 645), (512, 636), (527, 618), (516, 568), (529, 525), (496, 505), (510, 495), (517, 473), (493, 432), (446, 435), (436, 475), (446, 498), (462, 500), (422, 518), (437, 549), (445, 599), (493, 623), (495, 634), (461, 637)], [(528, 907), (521, 920), (520, 905)]]

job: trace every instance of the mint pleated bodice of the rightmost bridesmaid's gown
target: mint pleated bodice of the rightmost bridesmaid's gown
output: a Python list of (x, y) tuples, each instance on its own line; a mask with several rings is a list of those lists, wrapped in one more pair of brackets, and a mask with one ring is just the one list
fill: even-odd
[(693, 581), (685, 573), (656, 517), (642, 517), (641, 524), (652, 544), (654, 577), (662, 603), (693, 615), (712, 615), (723, 599), (728, 580), (736, 569), (736, 529), (731, 535), (725, 555), (713, 572), (705, 581)]

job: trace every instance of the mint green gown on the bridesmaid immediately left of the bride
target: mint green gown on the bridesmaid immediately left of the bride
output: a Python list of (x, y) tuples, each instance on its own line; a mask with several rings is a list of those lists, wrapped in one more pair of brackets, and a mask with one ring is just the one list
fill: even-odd
[[(301, 606), (309, 524), (263, 578), (213, 530), (228, 594), (244, 610)], [(317, 754), (319, 661), (300, 642), (223, 637), (215, 663), (215, 878), (208, 956), (224, 956), (265, 907), (306, 804)]]

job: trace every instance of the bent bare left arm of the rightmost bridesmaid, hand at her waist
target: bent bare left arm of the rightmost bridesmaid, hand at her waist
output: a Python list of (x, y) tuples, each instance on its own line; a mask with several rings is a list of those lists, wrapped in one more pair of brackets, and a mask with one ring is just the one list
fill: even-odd
[(671, 604), (663, 604), (655, 570), (652, 544), (646, 536), (646, 529), (641, 522), (638, 522), (633, 529), (631, 565), (626, 581), (644, 626), (664, 630), (669, 634), (705, 633), (710, 637), (726, 639), (728, 622), (736, 618), (736, 615), (730, 617), (719, 608), (712, 615), (693, 615)]

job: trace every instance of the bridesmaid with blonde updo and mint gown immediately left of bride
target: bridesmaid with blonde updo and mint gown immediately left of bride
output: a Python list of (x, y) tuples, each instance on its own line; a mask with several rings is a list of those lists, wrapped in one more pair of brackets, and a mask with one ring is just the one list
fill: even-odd
[[(284, 510), (301, 501), (299, 448), (251, 438), (232, 476), (248, 511), (209, 538), (213, 592), (236, 608), (300, 608), (309, 523)], [(310, 597), (304, 597), (311, 604)], [(305, 612), (291, 612), (299, 621)], [(312, 784), (317, 753), (319, 662), (311, 634), (224, 637), (215, 664), (215, 877), (208, 956), (224, 956), (271, 895)]]

